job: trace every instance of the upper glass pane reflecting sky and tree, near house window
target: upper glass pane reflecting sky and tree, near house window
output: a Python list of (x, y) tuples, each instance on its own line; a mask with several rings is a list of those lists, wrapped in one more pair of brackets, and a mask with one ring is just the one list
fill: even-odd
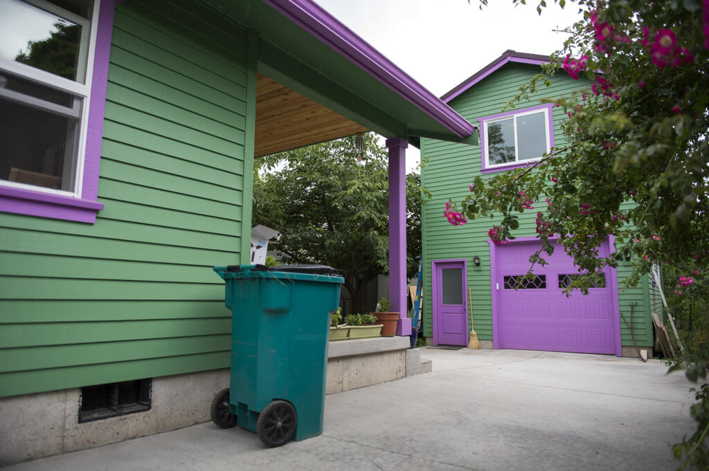
[(77, 79), (82, 27), (19, 0), (0, 2), (0, 57)]

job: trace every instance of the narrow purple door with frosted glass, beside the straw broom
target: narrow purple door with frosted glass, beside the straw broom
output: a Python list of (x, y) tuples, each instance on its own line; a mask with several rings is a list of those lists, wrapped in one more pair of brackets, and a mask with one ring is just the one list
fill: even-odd
[(467, 269), (464, 260), (434, 261), (433, 343), (467, 345)]

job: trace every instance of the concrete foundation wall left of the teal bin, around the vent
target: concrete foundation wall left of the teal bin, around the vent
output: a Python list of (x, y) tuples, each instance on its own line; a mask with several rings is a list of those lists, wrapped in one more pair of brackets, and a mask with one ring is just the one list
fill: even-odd
[(228, 369), (155, 378), (150, 410), (84, 424), (79, 388), (0, 399), (0, 467), (208, 421), (228, 385)]

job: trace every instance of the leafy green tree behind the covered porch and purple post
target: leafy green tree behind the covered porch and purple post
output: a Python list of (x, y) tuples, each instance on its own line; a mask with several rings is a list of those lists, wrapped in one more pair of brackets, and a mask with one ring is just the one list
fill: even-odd
[[(345, 137), (259, 159), (253, 220), (281, 232), (278, 249), (287, 262), (342, 270), (354, 312), (362, 312), (367, 282), (389, 267), (389, 174), (386, 149), (374, 135), (364, 135), (362, 161), (354, 141)], [(418, 175), (406, 176), (408, 276), (418, 271), (425, 194)]]

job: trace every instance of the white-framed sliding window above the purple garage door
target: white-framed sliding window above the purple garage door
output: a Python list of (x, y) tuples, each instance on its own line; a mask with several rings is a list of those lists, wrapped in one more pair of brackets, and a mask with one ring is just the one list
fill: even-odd
[(523, 166), (554, 145), (551, 105), (480, 118), (483, 171)]

